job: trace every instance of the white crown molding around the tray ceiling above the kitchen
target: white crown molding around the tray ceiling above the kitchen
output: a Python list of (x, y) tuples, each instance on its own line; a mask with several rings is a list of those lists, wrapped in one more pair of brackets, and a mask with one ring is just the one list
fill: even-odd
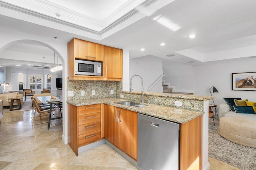
[[(29, 3), (33, 3), (34, 5), (37, 5), (37, 6), (40, 6), (40, 7), (42, 6), (45, 9), (53, 11), (54, 14), (56, 13), (56, 11), (58, 11), (58, 12), (61, 13), (61, 15), (65, 14), (66, 16), (69, 16), (71, 18), (81, 20), (81, 21), (84, 21), (84, 22), (88, 22), (90, 24), (94, 24), (97, 27), (102, 27), (102, 25), (103, 25), (102, 23), (100, 23), (97, 20), (94, 20), (92, 18), (89, 18), (88, 16), (82, 15), (80, 13), (74, 12), (74, 11), (69, 10), (67, 8), (64, 8), (64, 7), (61, 7), (61, 9), (62, 9), (61, 11), (56, 10), (57, 5), (54, 4), (54, 3), (48, 2), (48, 1), (44, 1), (44, 2), (47, 2), (47, 4), (42, 4), (43, 0), (37, 0), (37, 1), (35, 1), (35, 0), (24, 0), (24, 1), (29, 2)], [(0, 1), (0, 6), (4, 7), (4, 8), (8, 8), (10, 10), (15, 10), (17, 12), (22, 12), (24, 14), (28, 14), (30, 16), (41, 18), (43, 20), (52, 21), (54, 23), (59, 23), (59, 24), (62, 24), (62, 25), (66, 25), (68, 27), (72, 27), (72, 28), (75, 28), (75, 29), (80, 29), (82, 31), (87, 31), (89, 33), (94, 33), (96, 35), (102, 35), (103, 33), (106, 33), (108, 31), (110, 31), (112, 28), (116, 27), (120, 23), (128, 20), (130, 17), (137, 14), (139, 12), (139, 10), (150, 6), (151, 4), (153, 4), (156, 1), (158, 1), (158, 0), (140, 0), (137, 3), (129, 4), (128, 5), (129, 8), (127, 8), (126, 10), (123, 10), (122, 12), (116, 10), (116, 12), (113, 13), (113, 16), (111, 14), (104, 21), (105, 25), (108, 25), (108, 26), (106, 26), (105, 28), (102, 27), (102, 30), (100, 30), (100, 31), (96, 31), (96, 30), (90, 29), (88, 27), (84, 27), (84, 26), (77, 25), (77, 24), (74, 24), (74, 23), (71, 23), (71, 22), (68, 22), (68, 21), (64, 21), (64, 20), (61, 20), (61, 19), (56, 18), (56, 17), (47, 16), (47, 15), (41, 14), (41, 13), (36, 12), (36, 11), (28, 10), (28, 9), (22, 8), (20, 6), (10, 4), (8, 2)], [(125, 6), (127, 6), (127, 4), (125, 4), (124, 7)], [(122, 8), (124, 8), (124, 7), (122, 7)], [(136, 7), (136, 9), (135, 9), (135, 7)], [(139, 9), (139, 10), (137, 10), (137, 9)], [(129, 10), (130, 10), (130, 12), (129, 12)], [(128, 12), (128, 13), (126, 13), (126, 12)], [(115, 14), (116, 14), (116, 17), (114, 17)]]

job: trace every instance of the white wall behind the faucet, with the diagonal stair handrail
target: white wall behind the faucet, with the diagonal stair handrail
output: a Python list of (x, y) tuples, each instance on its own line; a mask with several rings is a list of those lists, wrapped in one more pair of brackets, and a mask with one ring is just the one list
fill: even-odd
[[(145, 56), (136, 59), (130, 59), (129, 78), (131, 78), (131, 76), (134, 74), (139, 74), (140, 76), (142, 76), (145, 92), (161, 92), (162, 79), (159, 80), (151, 90), (147, 90), (147, 88), (149, 88), (150, 85), (154, 83), (154, 81), (157, 80), (157, 78), (159, 78), (159, 76), (163, 74), (161, 58), (154, 56)], [(132, 88), (141, 88), (140, 77), (135, 76), (132, 79)]]

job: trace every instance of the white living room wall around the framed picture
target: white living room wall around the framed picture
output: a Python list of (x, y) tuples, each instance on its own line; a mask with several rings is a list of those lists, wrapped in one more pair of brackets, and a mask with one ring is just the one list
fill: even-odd
[[(209, 88), (214, 86), (219, 91), (218, 93), (212, 93), (214, 103), (218, 106), (221, 103), (225, 103), (223, 98), (242, 98), (255, 102), (256, 92), (232, 90), (232, 73), (255, 72), (255, 68), (256, 58), (236, 61), (226, 60), (218, 63), (193, 66), (195, 79), (194, 94), (210, 96)], [(209, 103), (212, 104), (212, 100)]]

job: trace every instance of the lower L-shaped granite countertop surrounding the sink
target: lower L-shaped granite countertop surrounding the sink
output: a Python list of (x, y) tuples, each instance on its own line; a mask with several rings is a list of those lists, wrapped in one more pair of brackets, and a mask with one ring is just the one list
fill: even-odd
[[(91, 98), (82, 100), (67, 100), (68, 103), (74, 106), (86, 106), (92, 104), (108, 104), (115, 107), (120, 107), (130, 111), (135, 111), (145, 115), (158, 117), (161, 119), (174, 121), (177, 123), (186, 123), (200, 115), (204, 114), (204, 111), (192, 111), (186, 109), (180, 109), (176, 107), (168, 107), (156, 104), (146, 104), (144, 107), (130, 107), (117, 104), (117, 102), (136, 102), (132, 100), (120, 99), (120, 98)], [(138, 103), (138, 102), (137, 102)]]

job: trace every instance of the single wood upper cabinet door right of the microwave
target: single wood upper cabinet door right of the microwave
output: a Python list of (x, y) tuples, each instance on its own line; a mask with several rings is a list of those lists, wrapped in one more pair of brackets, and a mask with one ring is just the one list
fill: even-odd
[(123, 51), (121, 49), (104, 46), (104, 77), (123, 77)]

